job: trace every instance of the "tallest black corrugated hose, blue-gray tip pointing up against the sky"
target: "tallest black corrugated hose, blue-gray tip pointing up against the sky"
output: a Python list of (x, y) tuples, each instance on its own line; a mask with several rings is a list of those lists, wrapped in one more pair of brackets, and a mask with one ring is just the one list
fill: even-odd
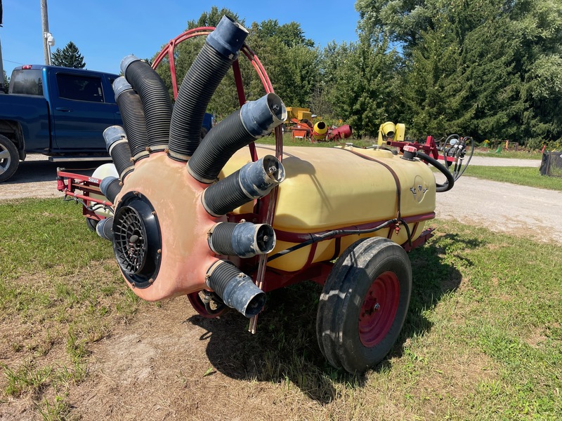
[(237, 59), (248, 31), (223, 16), (181, 83), (171, 114), (169, 156), (188, 161), (200, 144), (203, 116), (218, 83)]

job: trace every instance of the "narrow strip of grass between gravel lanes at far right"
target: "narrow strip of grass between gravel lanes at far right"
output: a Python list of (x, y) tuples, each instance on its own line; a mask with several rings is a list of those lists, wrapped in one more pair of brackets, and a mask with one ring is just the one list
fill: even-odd
[(539, 168), (469, 165), (464, 175), (484, 178), (485, 180), (511, 182), (516, 185), (562, 191), (562, 178), (540, 175)]

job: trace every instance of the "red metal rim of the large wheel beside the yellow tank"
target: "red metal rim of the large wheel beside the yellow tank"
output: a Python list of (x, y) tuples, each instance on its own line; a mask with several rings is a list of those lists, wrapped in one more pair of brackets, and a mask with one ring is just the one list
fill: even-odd
[(384, 272), (371, 284), (359, 314), (359, 339), (365, 347), (379, 345), (390, 330), (400, 298), (394, 272)]

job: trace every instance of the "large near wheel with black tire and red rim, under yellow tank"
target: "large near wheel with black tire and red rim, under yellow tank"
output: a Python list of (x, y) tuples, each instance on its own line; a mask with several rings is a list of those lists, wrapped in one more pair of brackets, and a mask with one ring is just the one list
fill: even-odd
[(381, 237), (349, 246), (318, 304), (316, 337), (328, 362), (349, 373), (381, 362), (400, 335), (411, 293), (412, 267), (402, 247)]

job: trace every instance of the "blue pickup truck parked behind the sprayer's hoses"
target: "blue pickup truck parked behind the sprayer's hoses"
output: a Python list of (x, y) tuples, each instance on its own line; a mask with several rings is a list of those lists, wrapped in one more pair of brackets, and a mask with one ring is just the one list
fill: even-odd
[(16, 67), (0, 94), (0, 182), (28, 153), (51, 161), (110, 160), (103, 131), (121, 125), (117, 74), (45, 65)]

